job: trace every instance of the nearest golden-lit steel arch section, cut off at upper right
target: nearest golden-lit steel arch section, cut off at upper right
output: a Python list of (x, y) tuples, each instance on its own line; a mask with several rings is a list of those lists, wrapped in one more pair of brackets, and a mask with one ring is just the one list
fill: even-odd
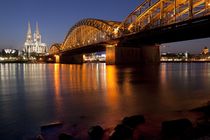
[(210, 0), (145, 0), (120, 25), (124, 35), (208, 15)]

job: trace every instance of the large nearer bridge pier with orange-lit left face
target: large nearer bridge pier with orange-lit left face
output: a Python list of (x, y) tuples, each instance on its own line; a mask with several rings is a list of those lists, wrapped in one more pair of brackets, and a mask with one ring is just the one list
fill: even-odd
[(159, 46), (106, 47), (106, 64), (158, 64), (160, 63)]

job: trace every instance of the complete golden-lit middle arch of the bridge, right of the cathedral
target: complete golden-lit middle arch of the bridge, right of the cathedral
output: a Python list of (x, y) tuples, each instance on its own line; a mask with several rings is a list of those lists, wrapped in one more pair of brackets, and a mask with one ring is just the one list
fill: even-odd
[(69, 30), (60, 49), (66, 51), (116, 38), (119, 25), (120, 22), (115, 21), (83, 19)]

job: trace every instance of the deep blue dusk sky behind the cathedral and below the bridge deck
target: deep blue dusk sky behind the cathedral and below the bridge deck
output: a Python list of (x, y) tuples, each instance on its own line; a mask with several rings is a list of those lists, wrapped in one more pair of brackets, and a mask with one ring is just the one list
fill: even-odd
[[(32, 31), (39, 23), (42, 40), (49, 46), (62, 42), (83, 18), (122, 21), (142, 0), (0, 0), (0, 49), (22, 49), (28, 21)], [(166, 44), (162, 51), (200, 52), (210, 39)]]

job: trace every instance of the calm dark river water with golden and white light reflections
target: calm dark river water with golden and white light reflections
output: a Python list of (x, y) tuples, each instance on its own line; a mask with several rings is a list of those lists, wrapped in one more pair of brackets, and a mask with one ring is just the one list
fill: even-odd
[(57, 120), (115, 125), (124, 116), (187, 110), (208, 100), (210, 63), (0, 64), (0, 139), (26, 139)]

